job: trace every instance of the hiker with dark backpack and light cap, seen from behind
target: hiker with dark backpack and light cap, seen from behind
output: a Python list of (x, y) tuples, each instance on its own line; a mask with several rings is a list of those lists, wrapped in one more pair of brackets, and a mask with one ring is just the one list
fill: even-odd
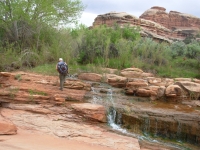
[(59, 90), (63, 90), (63, 84), (65, 82), (65, 78), (67, 76), (68, 73), (68, 66), (67, 63), (63, 61), (62, 58), (59, 58), (59, 61), (56, 65), (56, 70), (59, 73), (59, 79), (60, 79), (60, 88)]

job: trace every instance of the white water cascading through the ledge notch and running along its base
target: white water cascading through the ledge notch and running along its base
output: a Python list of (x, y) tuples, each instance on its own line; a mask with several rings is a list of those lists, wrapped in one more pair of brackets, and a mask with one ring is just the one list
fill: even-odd
[[(162, 145), (165, 147), (170, 147), (170, 149), (173, 150), (186, 150), (188, 148), (180, 147), (176, 144), (170, 144), (170, 143), (163, 143), (160, 140), (152, 139), (148, 136), (149, 127), (150, 127), (150, 119), (144, 118), (144, 126), (143, 131), (144, 135), (139, 135), (135, 133), (130, 133), (128, 130), (122, 128), (122, 115), (119, 111), (116, 110), (116, 105), (118, 102), (116, 102), (115, 98), (113, 98), (113, 90), (111, 88), (106, 89), (107, 93), (106, 95), (99, 94), (100, 90), (98, 88), (92, 88), (92, 101), (93, 104), (101, 104), (104, 105), (107, 108), (107, 120), (108, 120), (108, 126), (110, 126), (113, 130), (116, 130), (118, 132), (121, 132), (127, 136), (132, 136), (135, 138), (138, 138), (140, 141), (148, 141), (150, 143), (154, 143), (155, 145)], [(158, 122), (156, 120), (155, 122), (156, 130), (155, 130), (155, 137), (157, 137), (158, 131), (157, 126)], [(179, 132), (179, 131), (177, 131)]]

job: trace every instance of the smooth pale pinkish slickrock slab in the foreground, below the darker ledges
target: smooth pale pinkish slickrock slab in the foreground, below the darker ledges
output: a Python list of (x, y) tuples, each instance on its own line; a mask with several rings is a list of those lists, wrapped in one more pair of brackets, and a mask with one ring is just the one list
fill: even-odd
[[(57, 108), (59, 109), (59, 108)], [(73, 114), (36, 114), (1, 108), (1, 115), (12, 120), (18, 134), (0, 136), (0, 150), (139, 150), (138, 140), (84, 123)], [(61, 112), (60, 112), (61, 113)]]

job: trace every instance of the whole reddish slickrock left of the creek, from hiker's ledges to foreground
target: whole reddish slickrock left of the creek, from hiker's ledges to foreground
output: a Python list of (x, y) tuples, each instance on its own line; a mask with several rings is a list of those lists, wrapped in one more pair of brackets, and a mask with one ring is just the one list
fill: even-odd
[(86, 82), (68, 79), (60, 91), (58, 76), (1, 72), (0, 85), (0, 115), (17, 128), (0, 135), (0, 150), (140, 150), (138, 139), (105, 128), (103, 106), (84, 104)]

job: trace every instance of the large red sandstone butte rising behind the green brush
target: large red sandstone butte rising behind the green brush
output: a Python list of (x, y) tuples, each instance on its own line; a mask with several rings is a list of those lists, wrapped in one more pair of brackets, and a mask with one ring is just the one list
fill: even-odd
[(141, 36), (167, 42), (184, 40), (198, 33), (200, 29), (200, 18), (177, 11), (167, 13), (165, 8), (158, 6), (146, 10), (139, 18), (126, 12), (98, 15), (92, 28), (102, 24), (113, 26), (114, 23), (120, 26), (125, 24), (139, 26), (142, 29)]

